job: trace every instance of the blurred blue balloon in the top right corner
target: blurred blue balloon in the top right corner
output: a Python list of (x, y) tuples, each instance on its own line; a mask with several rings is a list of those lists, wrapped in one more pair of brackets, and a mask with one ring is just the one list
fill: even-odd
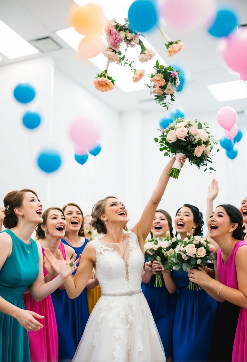
[(229, 5), (223, 5), (218, 9), (214, 22), (210, 24), (208, 32), (213, 37), (227, 37), (237, 25), (238, 16), (235, 13), (235, 9), (230, 8)]

